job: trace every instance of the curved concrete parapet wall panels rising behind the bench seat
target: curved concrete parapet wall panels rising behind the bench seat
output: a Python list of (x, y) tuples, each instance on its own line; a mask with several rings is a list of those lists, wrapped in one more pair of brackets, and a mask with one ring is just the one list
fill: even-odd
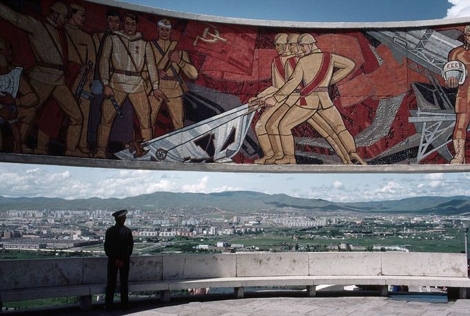
[[(3, 260), (0, 261), (0, 291), (40, 286), (105, 284), (107, 260), (105, 257)], [(154, 255), (132, 257), (129, 280), (155, 282), (217, 277), (348, 275), (467, 277), (467, 262), (461, 253)]]

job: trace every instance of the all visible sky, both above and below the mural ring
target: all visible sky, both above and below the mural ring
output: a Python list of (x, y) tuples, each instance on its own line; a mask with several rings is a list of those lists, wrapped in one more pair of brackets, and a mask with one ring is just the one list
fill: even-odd
[[(469, 0), (127, 0), (168, 10), (283, 21), (409, 21), (470, 17)], [(333, 201), (470, 196), (470, 173), (202, 173), (0, 163), (0, 196), (124, 198), (154, 191), (249, 190)]]

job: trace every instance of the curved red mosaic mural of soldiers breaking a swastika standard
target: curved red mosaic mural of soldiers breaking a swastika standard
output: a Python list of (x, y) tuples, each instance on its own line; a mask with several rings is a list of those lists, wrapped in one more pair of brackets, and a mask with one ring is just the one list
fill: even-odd
[(0, 3), (3, 153), (462, 164), (470, 27), (299, 29)]

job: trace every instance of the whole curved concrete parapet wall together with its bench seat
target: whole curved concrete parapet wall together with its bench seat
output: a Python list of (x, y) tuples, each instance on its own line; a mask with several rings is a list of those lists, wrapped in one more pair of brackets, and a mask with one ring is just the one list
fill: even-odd
[[(0, 261), (0, 302), (105, 293), (106, 258)], [(376, 285), (470, 288), (460, 253), (235, 253), (131, 257), (129, 290)], [(118, 283), (119, 284), (119, 283)], [(39, 286), (41, 285), (41, 286)], [(238, 289), (238, 290), (237, 290)], [(118, 289), (119, 291), (119, 289)], [(166, 295), (166, 296), (165, 296)]]

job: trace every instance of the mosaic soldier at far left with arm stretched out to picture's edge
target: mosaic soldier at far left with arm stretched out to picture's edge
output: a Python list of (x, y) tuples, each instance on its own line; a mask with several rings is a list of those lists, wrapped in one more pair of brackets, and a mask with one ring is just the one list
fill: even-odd
[[(39, 21), (19, 12), (15, 12), (0, 3), (0, 17), (28, 33), (30, 46), (36, 59), (36, 65), (29, 74), (29, 81), (39, 96), (35, 109), (39, 111), (45, 101), (52, 96), (63, 112), (69, 117), (65, 133), (65, 155), (83, 156), (78, 145), (83, 128), (83, 115), (74, 94), (65, 84), (64, 70), (67, 67), (68, 47), (64, 25), (71, 17), (68, 4), (56, 2), (50, 7), (50, 14), (45, 21)], [(36, 118), (25, 116), (21, 124), (21, 138), (28, 136), (30, 127)]]

